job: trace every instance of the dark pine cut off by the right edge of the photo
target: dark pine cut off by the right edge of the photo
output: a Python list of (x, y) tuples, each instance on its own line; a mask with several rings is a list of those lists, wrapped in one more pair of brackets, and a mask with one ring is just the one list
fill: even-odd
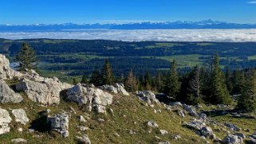
[(238, 99), (238, 108), (245, 111), (256, 111), (256, 71), (246, 72), (246, 83)]

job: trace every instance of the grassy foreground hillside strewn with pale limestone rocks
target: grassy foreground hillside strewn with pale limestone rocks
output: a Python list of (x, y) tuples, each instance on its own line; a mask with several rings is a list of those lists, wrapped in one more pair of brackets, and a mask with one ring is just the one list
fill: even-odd
[(122, 84), (74, 86), (16, 72), (2, 55), (0, 65), (2, 143), (255, 143), (255, 114), (232, 106), (160, 103)]

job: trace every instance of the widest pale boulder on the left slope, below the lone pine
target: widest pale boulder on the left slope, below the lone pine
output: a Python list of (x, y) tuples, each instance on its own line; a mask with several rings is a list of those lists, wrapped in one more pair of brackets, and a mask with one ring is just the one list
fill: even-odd
[(16, 90), (25, 91), (30, 100), (43, 105), (59, 104), (61, 91), (70, 87), (71, 85), (62, 84), (56, 77), (50, 79), (40, 76), (31, 76), (30, 79), (22, 78), (16, 84)]

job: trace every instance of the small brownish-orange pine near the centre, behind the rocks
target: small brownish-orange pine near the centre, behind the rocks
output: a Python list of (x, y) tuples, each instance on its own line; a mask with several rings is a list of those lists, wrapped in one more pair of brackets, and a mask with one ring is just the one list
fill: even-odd
[(128, 73), (124, 85), (128, 91), (133, 92), (138, 90), (138, 81), (136, 79), (136, 76), (134, 76), (132, 70)]

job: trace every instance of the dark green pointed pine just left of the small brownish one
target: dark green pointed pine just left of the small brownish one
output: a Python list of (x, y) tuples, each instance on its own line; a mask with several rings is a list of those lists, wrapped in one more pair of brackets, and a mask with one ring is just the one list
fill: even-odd
[(115, 76), (112, 73), (112, 68), (108, 60), (105, 60), (104, 67), (101, 71), (101, 76), (103, 84), (113, 84), (115, 82)]

